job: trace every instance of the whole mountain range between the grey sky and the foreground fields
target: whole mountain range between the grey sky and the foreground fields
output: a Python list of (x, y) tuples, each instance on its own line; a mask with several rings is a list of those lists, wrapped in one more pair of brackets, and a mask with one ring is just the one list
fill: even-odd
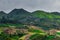
[[(5, 14), (4, 12), (0, 12)], [(60, 29), (60, 15), (59, 12), (45, 12), (41, 10), (32, 13), (24, 9), (13, 9), (6, 15), (1, 15), (2, 22), (6, 23), (22, 23), (26, 25), (35, 25), (43, 29), (56, 28)]]

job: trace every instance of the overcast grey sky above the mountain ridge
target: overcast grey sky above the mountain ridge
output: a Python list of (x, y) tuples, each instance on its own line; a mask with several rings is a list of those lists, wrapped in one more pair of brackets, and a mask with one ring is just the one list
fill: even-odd
[(0, 11), (10, 12), (14, 8), (60, 12), (60, 0), (0, 0)]

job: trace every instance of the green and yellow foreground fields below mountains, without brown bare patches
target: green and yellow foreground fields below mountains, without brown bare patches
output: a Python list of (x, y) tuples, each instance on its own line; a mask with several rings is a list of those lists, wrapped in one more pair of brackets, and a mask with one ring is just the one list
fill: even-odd
[[(34, 28), (27, 28), (23, 24), (0, 24), (0, 39), (1, 40), (24, 40), (25, 37), (29, 36), (29, 40), (53, 40), (57, 37), (57, 35), (60, 36), (60, 32), (57, 32), (56, 35), (48, 35), (46, 32)], [(14, 27), (13, 27), (14, 26)], [(28, 33), (21, 33), (19, 30), (16, 31), (17, 34), (6, 34), (3, 29), (5, 28), (21, 28), (25, 27), (24, 29), (28, 29)], [(60, 37), (59, 37), (60, 38)], [(57, 38), (56, 38), (57, 40)]]

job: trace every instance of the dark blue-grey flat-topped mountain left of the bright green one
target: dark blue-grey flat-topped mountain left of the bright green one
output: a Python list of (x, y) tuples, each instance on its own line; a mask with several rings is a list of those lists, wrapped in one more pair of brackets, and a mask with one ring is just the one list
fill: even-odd
[(5, 16), (5, 19), (10, 21), (10, 22), (26, 22), (26, 18), (30, 16), (30, 12), (24, 10), (24, 9), (13, 9), (10, 13), (8, 13)]

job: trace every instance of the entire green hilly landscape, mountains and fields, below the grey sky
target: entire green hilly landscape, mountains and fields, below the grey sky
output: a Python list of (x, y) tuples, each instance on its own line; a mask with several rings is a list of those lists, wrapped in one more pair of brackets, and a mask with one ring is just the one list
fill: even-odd
[[(52, 30), (54, 29), (54, 30)], [(0, 11), (0, 40), (60, 40), (60, 13), (14, 9)]]

